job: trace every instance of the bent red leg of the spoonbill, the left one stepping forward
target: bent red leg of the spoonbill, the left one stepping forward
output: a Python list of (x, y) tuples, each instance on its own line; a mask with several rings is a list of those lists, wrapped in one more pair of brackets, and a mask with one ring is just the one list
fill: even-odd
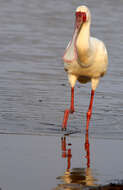
[(73, 112), (74, 112), (74, 87), (71, 87), (71, 105), (70, 105), (70, 109), (66, 109), (64, 112), (62, 130), (66, 130), (69, 113), (73, 113)]

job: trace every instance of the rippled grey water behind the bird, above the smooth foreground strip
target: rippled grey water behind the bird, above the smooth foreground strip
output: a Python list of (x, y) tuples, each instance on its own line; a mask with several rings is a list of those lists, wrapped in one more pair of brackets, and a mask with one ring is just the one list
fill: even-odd
[[(86, 2), (86, 3), (85, 3)], [(123, 1), (0, 1), (0, 132), (60, 133), (70, 87), (62, 55), (71, 39), (74, 11), (92, 13), (91, 33), (109, 52), (107, 75), (96, 91), (90, 133), (123, 137)], [(85, 130), (90, 84), (77, 83), (72, 131)]]

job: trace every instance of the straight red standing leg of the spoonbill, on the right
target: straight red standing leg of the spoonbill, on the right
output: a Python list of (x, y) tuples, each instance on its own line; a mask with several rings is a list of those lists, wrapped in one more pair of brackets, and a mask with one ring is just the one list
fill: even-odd
[(86, 131), (88, 131), (89, 122), (90, 122), (90, 119), (91, 119), (92, 106), (93, 106), (93, 100), (94, 100), (94, 93), (95, 93), (95, 91), (91, 90), (90, 105), (89, 105), (88, 112), (87, 112)]

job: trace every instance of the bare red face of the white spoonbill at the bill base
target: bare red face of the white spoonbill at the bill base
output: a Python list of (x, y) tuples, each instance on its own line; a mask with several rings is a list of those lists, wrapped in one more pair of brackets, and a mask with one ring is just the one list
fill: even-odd
[(75, 14), (76, 14), (75, 27), (76, 27), (77, 29), (80, 29), (81, 25), (82, 25), (84, 22), (86, 22), (86, 20), (87, 20), (86, 12), (77, 11)]

